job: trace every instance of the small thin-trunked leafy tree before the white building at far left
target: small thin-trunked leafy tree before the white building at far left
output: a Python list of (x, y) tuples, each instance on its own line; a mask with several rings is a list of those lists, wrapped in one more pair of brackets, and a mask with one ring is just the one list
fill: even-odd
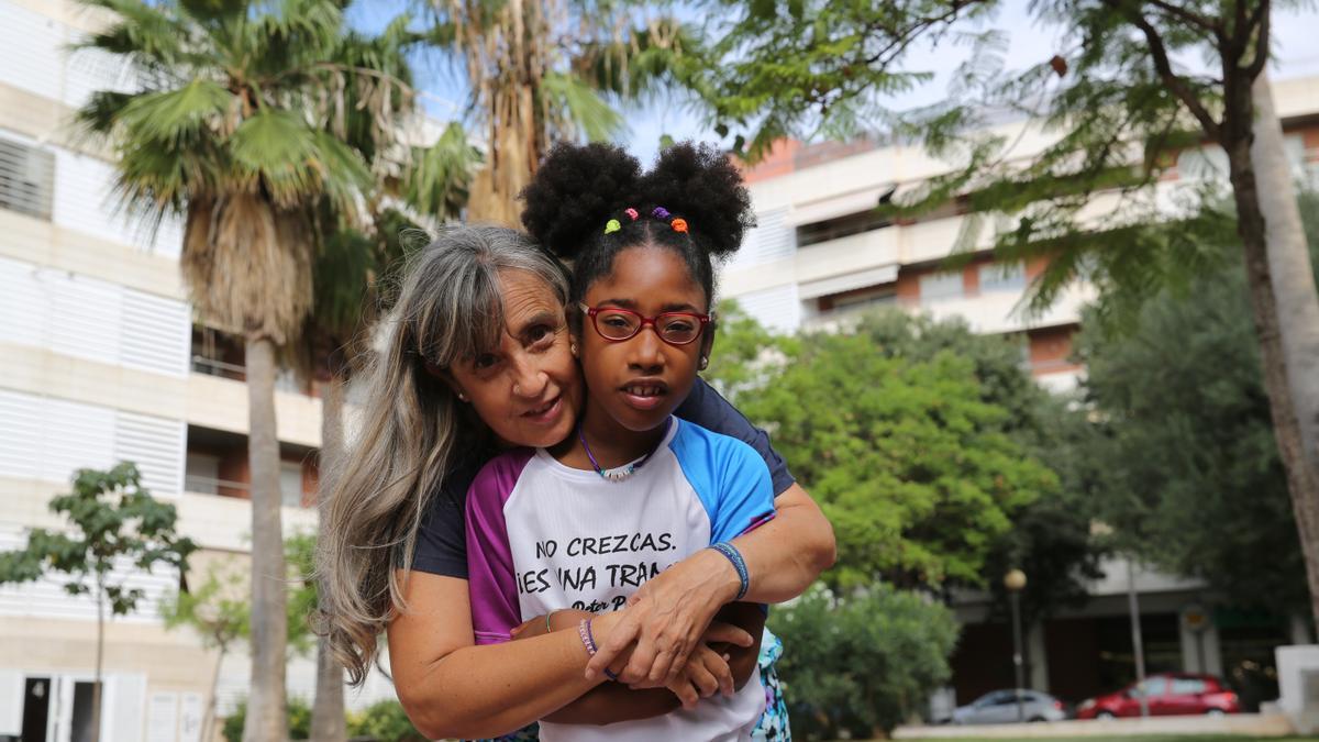
[(132, 613), (145, 597), (127, 586), (115, 568), (152, 572), (157, 566), (187, 572), (197, 547), (174, 531), (178, 512), (142, 489), (133, 463), (109, 471), (79, 469), (74, 491), (50, 500), (50, 511), (69, 519), (69, 529), (33, 528), (28, 545), (0, 552), (0, 584), (32, 582), (49, 573), (66, 576), (65, 591), (96, 602), (96, 681), (92, 685), (92, 742), (100, 739), (100, 677), (106, 646), (106, 609)]

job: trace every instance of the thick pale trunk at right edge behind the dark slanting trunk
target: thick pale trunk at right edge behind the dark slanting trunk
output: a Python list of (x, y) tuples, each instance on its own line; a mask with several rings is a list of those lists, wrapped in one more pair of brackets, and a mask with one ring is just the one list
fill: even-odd
[(1319, 438), (1319, 297), (1265, 75), (1239, 96), (1244, 100), (1227, 96), (1235, 120), (1224, 149), (1274, 437), (1304, 555), (1311, 613), (1319, 621), (1319, 450), (1314, 444)]

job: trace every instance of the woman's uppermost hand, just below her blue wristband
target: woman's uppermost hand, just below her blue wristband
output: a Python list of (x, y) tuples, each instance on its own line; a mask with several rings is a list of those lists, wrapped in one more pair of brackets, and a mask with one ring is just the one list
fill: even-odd
[[(711, 549), (702, 549), (661, 572), (632, 595), (608, 638), (598, 642), (599, 651), (586, 668), (587, 679), (612, 665), (636, 643), (619, 680), (633, 688), (667, 687), (687, 665), (719, 609), (737, 595), (739, 586), (732, 564)], [(737, 631), (745, 640), (706, 640), (751, 646), (749, 634), (731, 626), (725, 628)]]

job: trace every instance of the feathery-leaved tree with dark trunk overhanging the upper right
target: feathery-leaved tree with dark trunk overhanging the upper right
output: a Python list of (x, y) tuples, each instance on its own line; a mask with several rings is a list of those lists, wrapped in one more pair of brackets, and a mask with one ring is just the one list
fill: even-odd
[[(1274, 4), (1034, 3), (1035, 20), (1074, 46), (1000, 74), (992, 51), (1001, 38), (979, 33), (979, 53), (947, 103), (917, 116), (885, 107), (884, 95), (922, 79), (901, 70), (917, 38), (955, 32), (996, 5), (751, 3), (721, 42), (731, 61), (711, 65), (702, 90), (721, 125), (754, 132), (752, 156), (778, 136), (819, 128), (842, 136), (892, 123), (923, 137), (934, 154), (964, 166), (934, 178), (906, 211), (956, 199), (973, 214), (1009, 217), (993, 235), (998, 256), (1050, 257), (1035, 306), (1082, 276), (1100, 288), (1154, 292), (1167, 271), (1200, 261), (1204, 238), (1231, 219), (1170, 213), (1155, 189), (1178, 151), (1206, 141), (1221, 148), (1264, 388), (1319, 618), (1319, 294), (1265, 71)], [(1047, 144), (1013, 154), (1016, 143), (988, 127), (1001, 111), (1038, 121)], [(972, 230), (964, 242), (977, 239)]]

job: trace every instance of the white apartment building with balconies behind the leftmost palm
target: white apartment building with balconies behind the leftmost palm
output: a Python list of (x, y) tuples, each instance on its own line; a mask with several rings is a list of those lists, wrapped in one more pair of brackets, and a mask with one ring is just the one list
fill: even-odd
[[(194, 326), (179, 223), (153, 234), (117, 214), (111, 162), (69, 124), (92, 91), (135, 84), (111, 58), (66, 51), (98, 22), (65, 0), (0, 0), (0, 549), (61, 525), (47, 502), (75, 469), (127, 459), (202, 547), (194, 580), (224, 561), (245, 573), (241, 345)], [(291, 378), (276, 396), (285, 529), (313, 529), (321, 401)], [(100, 738), (197, 741), (216, 654), (165, 630), (177, 574), (121, 576), (146, 598), (107, 626)], [(54, 580), (0, 588), (0, 739), (87, 738), (95, 617)], [(314, 672), (314, 658), (294, 659), (290, 694), (310, 700)], [(222, 713), (247, 683), (240, 648), (220, 668)], [(377, 675), (348, 701), (383, 697), (393, 689)]]

